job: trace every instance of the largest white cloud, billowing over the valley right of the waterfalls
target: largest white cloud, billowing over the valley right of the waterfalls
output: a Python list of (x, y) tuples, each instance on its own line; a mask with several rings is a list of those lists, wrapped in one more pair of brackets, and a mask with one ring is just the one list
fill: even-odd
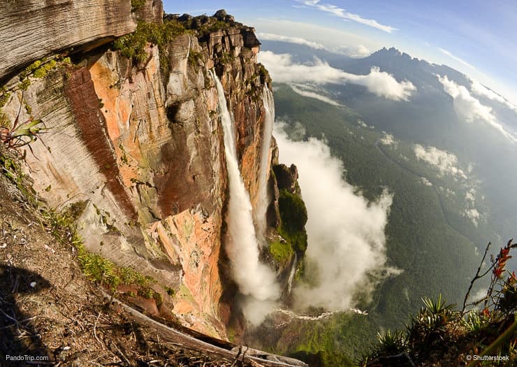
[[(293, 289), (298, 307), (327, 310), (356, 307), (358, 292), (370, 294), (376, 282), (400, 271), (386, 267), (384, 229), (392, 195), (384, 192), (368, 202), (342, 178), (343, 164), (323, 141), (291, 141), (275, 124), (280, 161), (298, 166), (307, 206), (307, 273), (316, 268), (317, 284)], [(310, 264), (314, 264), (314, 267)]]

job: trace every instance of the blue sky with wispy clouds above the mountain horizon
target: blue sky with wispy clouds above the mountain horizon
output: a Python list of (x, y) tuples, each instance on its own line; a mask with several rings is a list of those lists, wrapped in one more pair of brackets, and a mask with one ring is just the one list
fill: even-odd
[(395, 47), (451, 66), (517, 104), (517, 1), (163, 0), (163, 5), (166, 13), (191, 15), (224, 8), (255, 27), (259, 39), (298, 38), (354, 57)]

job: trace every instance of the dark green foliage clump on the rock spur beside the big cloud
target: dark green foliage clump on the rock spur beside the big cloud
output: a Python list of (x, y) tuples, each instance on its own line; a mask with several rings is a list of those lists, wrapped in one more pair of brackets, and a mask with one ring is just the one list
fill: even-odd
[(307, 208), (305, 208), (305, 203), (299, 195), (281, 189), (278, 206), (282, 222), (279, 233), (296, 252), (304, 253), (307, 249), (307, 232), (305, 231)]

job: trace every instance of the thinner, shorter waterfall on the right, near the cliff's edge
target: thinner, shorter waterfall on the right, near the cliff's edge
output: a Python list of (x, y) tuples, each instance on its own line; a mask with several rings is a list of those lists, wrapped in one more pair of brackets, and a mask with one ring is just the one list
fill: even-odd
[(264, 123), (263, 123), (263, 136), (262, 136), (262, 151), (261, 151), (261, 164), (260, 170), (258, 171), (258, 195), (257, 203), (255, 208), (255, 223), (258, 238), (261, 239), (261, 243), (265, 243), (263, 240), (265, 237), (265, 229), (268, 226), (266, 220), (266, 213), (268, 211), (269, 196), (268, 196), (268, 173), (269, 173), (269, 147), (271, 145), (271, 135), (273, 131), (273, 122), (275, 121), (275, 101), (273, 100), (273, 94), (268, 89), (267, 85), (264, 85), (262, 92), (262, 100), (264, 103)]

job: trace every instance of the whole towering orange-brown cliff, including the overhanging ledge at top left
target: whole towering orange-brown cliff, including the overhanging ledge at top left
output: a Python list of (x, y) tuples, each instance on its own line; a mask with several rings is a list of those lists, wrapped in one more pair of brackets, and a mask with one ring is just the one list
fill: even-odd
[[(56, 212), (80, 207), (85, 249), (152, 277), (159, 296), (118, 292), (151, 314), (226, 338), (236, 287), (221, 243), (228, 182), (209, 71), (235, 118), (254, 208), (270, 79), (256, 62), (254, 29), (224, 11), (163, 22), (159, 15), (159, 1), (131, 8), (129, 0), (34, 0), (4, 12), (0, 78), (10, 79), (0, 91), (0, 119), (41, 120), (45, 134), (30, 144), (24, 168), (36, 199)], [(272, 192), (275, 149), (272, 141)], [(273, 199), (269, 222), (276, 226)]]

